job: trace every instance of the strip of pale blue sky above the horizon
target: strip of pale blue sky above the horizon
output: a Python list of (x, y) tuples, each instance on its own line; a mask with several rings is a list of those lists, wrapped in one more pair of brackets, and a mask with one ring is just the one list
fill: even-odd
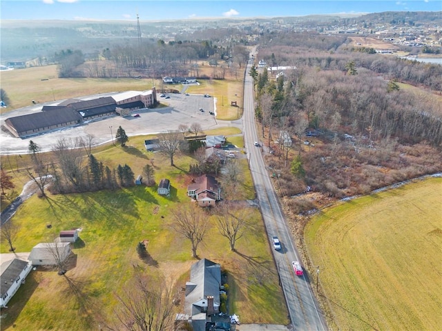
[(1, 0), (1, 19), (133, 20), (439, 11), (441, 0)]

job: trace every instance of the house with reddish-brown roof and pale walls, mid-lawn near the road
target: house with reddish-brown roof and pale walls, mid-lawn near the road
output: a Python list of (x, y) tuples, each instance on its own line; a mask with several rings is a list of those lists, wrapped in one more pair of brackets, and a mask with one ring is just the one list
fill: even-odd
[(221, 188), (215, 177), (204, 174), (187, 186), (187, 195), (198, 201), (200, 207), (211, 207), (215, 206), (216, 201), (220, 201)]

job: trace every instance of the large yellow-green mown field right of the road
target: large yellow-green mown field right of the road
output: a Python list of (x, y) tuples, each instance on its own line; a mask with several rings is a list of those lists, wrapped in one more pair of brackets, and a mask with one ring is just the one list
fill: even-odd
[(441, 188), (441, 178), (411, 183), (323, 210), (307, 225), (339, 330), (441, 330)]

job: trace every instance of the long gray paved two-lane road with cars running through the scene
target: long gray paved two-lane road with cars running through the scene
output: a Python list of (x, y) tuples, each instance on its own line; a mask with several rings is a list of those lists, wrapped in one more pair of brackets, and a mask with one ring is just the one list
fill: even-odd
[(307, 277), (296, 276), (291, 267), (291, 261), (300, 261), (299, 255), (282, 214), (269, 172), (265, 168), (261, 147), (254, 146), (254, 141), (260, 141), (260, 139), (258, 139), (254, 120), (253, 81), (249, 75), (250, 68), (251, 64), (249, 63), (244, 80), (244, 142), (267, 234), (269, 239), (273, 235), (278, 236), (282, 244), (282, 249), (280, 251), (274, 250), (273, 254), (285, 294), (291, 325), (294, 330), (325, 331), (328, 330), (327, 324), (318, 308)]

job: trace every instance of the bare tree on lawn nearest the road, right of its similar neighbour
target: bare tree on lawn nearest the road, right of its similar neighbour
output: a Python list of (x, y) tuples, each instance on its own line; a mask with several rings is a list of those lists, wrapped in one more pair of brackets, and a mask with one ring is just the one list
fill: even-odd
[(229, 239), (230, 250), (235, 251), (235, 243), (244, 235), (246, 220), (245, 213), (238, 212), (236, 208), (228, 203), (222, 203), (216, 210), (218, 230), (222, 237)]

